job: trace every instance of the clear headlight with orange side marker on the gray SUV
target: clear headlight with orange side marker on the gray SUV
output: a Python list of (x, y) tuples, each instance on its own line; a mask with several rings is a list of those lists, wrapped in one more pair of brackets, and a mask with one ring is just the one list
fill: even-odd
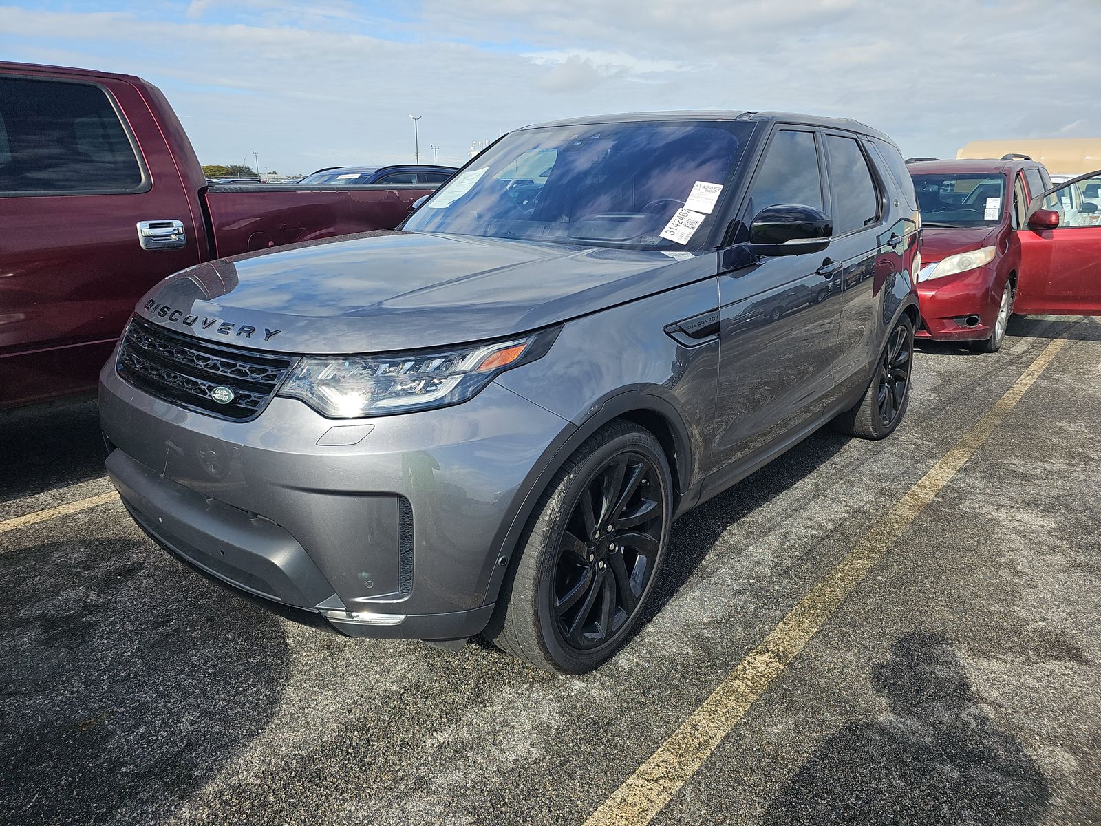
[(301, 399), (323, 416), (411, 413), (465, 402), (503, 370), (543, 356), (559, 328), (494, 344), (392, 356), (307, 356), (279, 395)]

